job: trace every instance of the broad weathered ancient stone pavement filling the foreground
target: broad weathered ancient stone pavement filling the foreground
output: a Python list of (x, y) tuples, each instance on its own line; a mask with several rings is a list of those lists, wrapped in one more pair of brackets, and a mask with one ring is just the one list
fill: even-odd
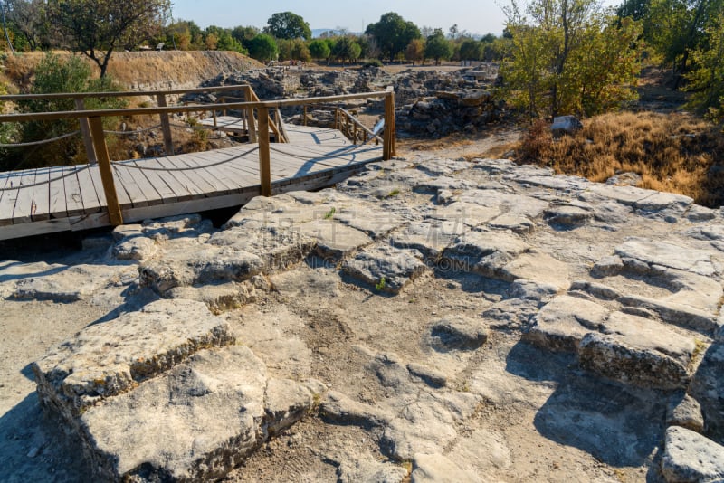
[[(724, 215), (686, 196), (418, 156), (336, 189), (256, 198), (220, 229), (189, 215), (121, 226), (105, 243), (93, 264), (0, 277), (5, 298), (145, 294), (33, 365), (95, 478), (221, 478), (319, 417), (376, 441), (374, 453), (314, 442), (341, 481), (497, 479), (527, 457), (481, 408), (531, 405), (540, 434), (601, 465), (724, 478)], [(284, 314), (292, 297), (329, 310), (339, 284), (395, 310), (433, 284), (439, 308), (398, 324), (331, 312), (357, 375), (319, 381), (307, 322)], [(271, 312), (224, 318), (272, 293), (286, 301)], [(378, 395), (363, 397), (363, 381)]]

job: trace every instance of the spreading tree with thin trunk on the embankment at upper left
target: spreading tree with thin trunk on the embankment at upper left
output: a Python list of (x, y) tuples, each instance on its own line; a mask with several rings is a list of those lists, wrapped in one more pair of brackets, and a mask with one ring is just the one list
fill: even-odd
[(59, 30), (106, 75), (110, 55), (129, 43), (157, 33), (171, 12), (169, 0), (49, 0)]

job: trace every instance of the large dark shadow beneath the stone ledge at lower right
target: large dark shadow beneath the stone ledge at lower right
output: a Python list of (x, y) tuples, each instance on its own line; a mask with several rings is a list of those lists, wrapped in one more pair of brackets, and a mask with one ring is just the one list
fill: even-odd
[(667, 400), (662, 393), (607, 382), (579, 370), (575, 355), (551, 355), (525, 343), (510, 351), (507, 370), (556, 384), (534, 419), (549, 440), (614, 467), (648, 464), (660, 443)]

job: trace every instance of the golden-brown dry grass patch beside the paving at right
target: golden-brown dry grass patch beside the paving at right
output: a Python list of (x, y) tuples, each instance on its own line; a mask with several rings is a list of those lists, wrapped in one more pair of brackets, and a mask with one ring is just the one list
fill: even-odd
[(522, 142), (519, 162), (598, 182), (634, 172), (642, 176), (640, 187), (686, 194), (707, 206), (724, 202), (724, 135), (688, 114), (609, 113), (560, 139), (538, 121)]

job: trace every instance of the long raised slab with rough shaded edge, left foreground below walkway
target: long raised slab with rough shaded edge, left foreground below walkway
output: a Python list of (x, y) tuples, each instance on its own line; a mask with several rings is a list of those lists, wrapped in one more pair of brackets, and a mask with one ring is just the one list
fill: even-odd
[(233, 344), (229, 326), (201, 302), (158, 300), (86, 327), (33, 363), (38, 395), (68, 419), (125, 393), (196, 351)]

